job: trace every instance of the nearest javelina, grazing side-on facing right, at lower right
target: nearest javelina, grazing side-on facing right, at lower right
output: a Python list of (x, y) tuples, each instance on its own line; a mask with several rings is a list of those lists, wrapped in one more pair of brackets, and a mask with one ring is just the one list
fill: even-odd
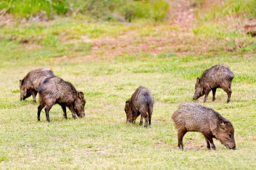
[(178, 131), (178, 146), (183, 150), (182, 139), (186, 132), (194, 131), (204, 134), (207, 148), (215, 150), (212, 138), (221, 141), (229, 149), (236, 149), (234, 128), (230, 121), (213, 109), (194, 103), (184, 103), (172, 115)]

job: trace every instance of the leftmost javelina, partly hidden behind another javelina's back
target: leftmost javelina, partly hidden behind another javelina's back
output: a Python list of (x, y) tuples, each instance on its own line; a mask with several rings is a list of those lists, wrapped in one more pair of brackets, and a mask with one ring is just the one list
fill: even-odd
[(47, 77), (54, 77), (52, 70), (48, 68), (38, 68), (30, 71), (24, 79), (20, 80), (20, 100), (25, 100), (32, 95), (35, 103), (38, 88)]

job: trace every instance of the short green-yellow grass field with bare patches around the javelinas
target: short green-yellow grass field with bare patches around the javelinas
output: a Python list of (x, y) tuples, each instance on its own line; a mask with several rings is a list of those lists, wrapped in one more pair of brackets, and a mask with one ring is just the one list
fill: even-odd
[[(85, 17), (86, 18), (86, 17)], [(193, 27), (167, 22), (87, 22), (83, 16), (11, 22), (0, 27), (0, 169), (254, 169), (256, 167), (256, 39), (233, 20)], [(233, 71), (231, 102), (218, 89), (192, 101), (195, 80), (215, 64)], [(85, 117), (48, 123), (32, 97), (20, 101), (19, 79), (52, 68), (85, 94)], [(149, 128), (126, 124), (124, 106), (137, 87), (154, 96)], [(38, 101), (38, 96), (37, 96)], [(237, 150), (187, 133), (177, 147), (172, 113), (183, 102), (218, 111), (235, 128)]]

